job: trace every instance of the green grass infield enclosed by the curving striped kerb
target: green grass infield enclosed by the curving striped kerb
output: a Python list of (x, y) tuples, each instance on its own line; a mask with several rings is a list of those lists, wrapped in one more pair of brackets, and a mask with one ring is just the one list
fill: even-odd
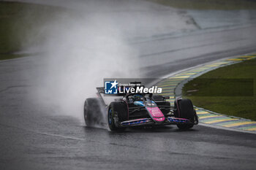
[[(249, 87), (246, 83), (238, 83), (238, 85), (229, 85), (227, 89), (221, 81), (212, 81), (212, 79), (253, 79), (254, 83), (253, 87)], [(256, 89), (255, 80), (256, 59), (252, 59), (213, 70), (189, 81), (184, 85), (183, 96), (190, 98), (197, 107), (225, 115), (256, 120), (256, 95), (252, 92), (252, 90), (255, 92)], [(244, 93), (237, 93), (239, 89), (240, 91), (243, 89)], [(214, 91), (223, 92), (224, 95), (211, 95)], [(233, 96), (225, 95), (230, 93), (233, 93)], [(249, 93), (252, 95), (246, 96)]]

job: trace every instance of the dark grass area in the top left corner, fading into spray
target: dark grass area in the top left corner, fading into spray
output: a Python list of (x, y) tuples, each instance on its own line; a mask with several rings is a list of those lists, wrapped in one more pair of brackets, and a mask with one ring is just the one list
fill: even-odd
[(42, 42), (45, 36), (40, 27), (58, 17), (60, 11), (64, 9), (0, 2), (0, 60), (23, 57), (15, 52)]

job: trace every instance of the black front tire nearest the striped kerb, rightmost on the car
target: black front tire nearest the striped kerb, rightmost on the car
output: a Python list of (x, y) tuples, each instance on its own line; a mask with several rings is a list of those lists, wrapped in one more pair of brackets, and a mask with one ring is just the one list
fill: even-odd
[(174, 102), (175, 117), (188, 119), (192, 124), (178, 124), (178, 128), (182, 130), (187, 130), (192, 128), (195, 123), (195, 109), (193, 107), (192, 101), (189, 99), (179, 99)]

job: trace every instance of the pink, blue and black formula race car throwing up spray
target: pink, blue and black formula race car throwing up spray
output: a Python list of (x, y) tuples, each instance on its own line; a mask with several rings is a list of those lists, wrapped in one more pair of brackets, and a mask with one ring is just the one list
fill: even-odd
[[(198, 124), (198, 117), (189, 99), (177, 98), (174, 106), (164, 96), (152, 93), (123, 93), (105, 104), (104, 88), (97, 88), (98, 98), (87, 98), (84, 104), (86, 125), (104, 124), (108, 120), (111, 131), (121, 131), (131, 126), (171, 125), (189, 129)], [(117, 95), (118, 96), (118, 95)]]

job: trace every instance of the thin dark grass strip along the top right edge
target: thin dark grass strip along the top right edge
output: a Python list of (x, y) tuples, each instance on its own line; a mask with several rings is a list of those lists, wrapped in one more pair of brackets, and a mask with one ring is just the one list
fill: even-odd
[(181, 9), (256, 9), (252, 0), (147, 0)]

